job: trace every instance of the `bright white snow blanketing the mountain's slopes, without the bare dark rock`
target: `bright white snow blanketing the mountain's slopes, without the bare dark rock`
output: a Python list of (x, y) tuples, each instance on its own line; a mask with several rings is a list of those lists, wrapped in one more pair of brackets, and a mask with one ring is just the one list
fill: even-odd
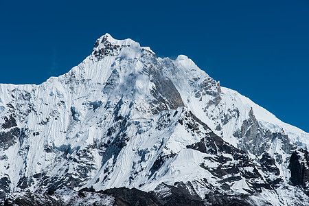
[[(40, 85), (0, 84), (0, 125), (5, 116), (14, 114), (16, 127), (27, 128), (22, 143), (16, 139), (18, 144), (1, 149), (8, 158), (0, 160), (0, 177), (10, 177), (12, 191), (20, 190), (17, 184), (23, 176), (30, 178), (40, 173), (56, 179), (65, 178), (66, 174), (80, 178), (82, 184), (76, 186), (76, 190), (91, 186), (95, 190), (125, 186), (150, 191), (162, 182), (173, 185), (177, 181), (186, 183), (204, 178), (209, 184), (218, 186), (218, 178), (201, 167), (204, 163), (216, 168), (218, 163), (205, 159), (209, 155), (186, 146), (195, 144), (212, 131), (238, 147), (240, 139), (233, 133), (242, 128), (251, 108), (262, 128), (273, 133), (281, 133), (283, 129), (292, 144), (309, 145), (308, 133), (285, 124), (238, 92), (219, 88), (218, 82), (187, 56), (180, 55), (176, 60), (155, 58), (149, 47), (141, 47), (131, 39), (115, 40), (109, 34), (98, 39), (95, 49), (105, 47), (103, 40), (121, 49), (111, 51), (102, 59), (96, 58), (93, 52), (68, 73), (49, 78)], [(150, 73), (152, 67), (157, 70)], [(174, 84), (183, 107), (152, 113), (155, 98), (151, 91), (156, 86), (155, 76), (168, 78)], [(211, 84), (208, 90), (214, 94), (203, 90), (207, 81), (210, 81), (207, 86)], [(198, 92), (201, 96), (196, 95)], [(30, 99), (26, 98), (26, 93), (30, 93)], [(209, 103), (218, 97), (218, 104)], [(98, 108), (94, 108), (94, 102), (101, 102)], [(192, 112), (209, 130), (200, 126), (200, 133), (192, 133), (179, 124), (186, 111)], [(224, 121), (226, 114), (231, 114), (227, 122)], [(7, 133), (11, 129), (0, 130)], [(38, 135), (33, 135), (35, 133)], [(115, 139), (126, 140), (117, 148)], [(273, 141), (267, 152), (272, 156), (277, 152), (282, 159), (288, 159), (289, 154), (282, 150), (283, 144)], [(250, 153), (249, 156), (260, 158)], [(159, 157), (168, 158), (150, 176), (152, 165)], [(290, 175), (287, 163), (276, 164), (287, 184)], [(87, 170), (85, 174), (78, 174), (84, 170)], [(38, 190), (40, 181), (34, 179), (30, 190)], [(200, 196), (208, 191), (199, 184), (194, 187)], [(245, 179), (231, 184), (233, 192), (247, 193), (244, 189), (250, 189)], [(267, 190), (255, 198), (257, 201), (273, 199), (275, 205), (289, 205), (290, 202), (283, 201), (287, 194), (287, 190), (281, 188), (275, 192)], [(301, 195), (301, 192), (296, 191), (296, 194)], [(70, 195), (63, 196), (65, 201)]]

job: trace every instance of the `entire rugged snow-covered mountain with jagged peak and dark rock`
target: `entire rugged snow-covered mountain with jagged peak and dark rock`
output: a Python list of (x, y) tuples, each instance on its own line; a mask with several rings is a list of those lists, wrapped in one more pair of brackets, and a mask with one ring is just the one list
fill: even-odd
[(130, 39), (0, 84), (0, 116), (5, 205), (309, 205), (308, 133)]

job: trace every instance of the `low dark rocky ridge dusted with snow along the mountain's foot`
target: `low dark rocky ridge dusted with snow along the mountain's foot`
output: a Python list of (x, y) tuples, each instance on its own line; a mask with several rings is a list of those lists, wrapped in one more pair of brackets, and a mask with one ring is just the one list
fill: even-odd
[[(247, 200), (246, 195), (222, 196), (218, 192), (207, 194), (202, 200), (197, 194), (192, 196), (183, 183), (176, 183), (176, 186), (160, 185), (161, 191), (143, 192), (135, 188), (128, 189), (119, 187), (105, 191), (95, 192), (84, 189), (78, 192), (69, 189), (54, 194), (19, 194), (5, 200), (5, 206), (23, 205), (115, 205), (115, 206), (196, 206), (196, 205), (252, 205), (253, 202)], [(66, 196), (66, 198), (63, 198)]]

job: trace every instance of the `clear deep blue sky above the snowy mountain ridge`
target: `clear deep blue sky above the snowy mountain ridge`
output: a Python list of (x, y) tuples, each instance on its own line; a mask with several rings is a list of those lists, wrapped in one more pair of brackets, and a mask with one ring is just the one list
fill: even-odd
[(0, 82), (66, 73), (106, 32), (157, 56), (185, 54), (223, 87), (309, 132), (308, 0), (0, 0)]

